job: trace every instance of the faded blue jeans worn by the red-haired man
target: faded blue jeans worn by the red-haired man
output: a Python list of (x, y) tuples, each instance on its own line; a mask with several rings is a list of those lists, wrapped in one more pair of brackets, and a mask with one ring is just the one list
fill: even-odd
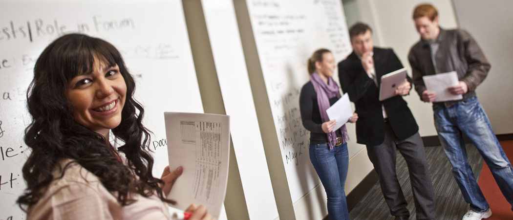
[(467, 162), (463, 134), (477, 147), (494, 175), (506, 200), (513, 206), (513, 168), (502, 150), (488, 117), (476, 96), (449, 108), (433, 105), (435, 127), (440, 143), (452, 165), (452, 175), (470, 209), (483, 212), (490, 208)]

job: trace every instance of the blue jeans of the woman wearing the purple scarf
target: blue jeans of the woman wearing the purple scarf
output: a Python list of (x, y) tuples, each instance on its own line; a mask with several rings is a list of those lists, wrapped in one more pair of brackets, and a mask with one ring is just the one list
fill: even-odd
[(347, 143), (334, 146), (329, 150), (327, 144), (310, 144), (310, 161), (321, 178), (328, 196), (328, 215), (330, 220), (349, 220), (347, 210), (346, 184), (349, 154)]

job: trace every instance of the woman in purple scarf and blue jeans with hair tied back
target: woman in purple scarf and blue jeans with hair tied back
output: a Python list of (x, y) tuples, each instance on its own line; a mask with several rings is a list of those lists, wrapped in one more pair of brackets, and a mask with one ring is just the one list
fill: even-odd
[[(303, 125), (310, 131), (310, 162), (326, 190), (329, 219), (349, 220), (344, 190), (349, 166), (349, 137), (345, 125), (333, 129), (337, 122), (330, 120), (326, 113), (326, 109), (341, 97), (339, 86), (332, 78), (335, 67), (331, 51), (319, 49), (313, 52), (308, 58), (310, 81), (301, 89), (299, 105)], [(357, 113), (349, 118), (350, 123), (357, 120)]]

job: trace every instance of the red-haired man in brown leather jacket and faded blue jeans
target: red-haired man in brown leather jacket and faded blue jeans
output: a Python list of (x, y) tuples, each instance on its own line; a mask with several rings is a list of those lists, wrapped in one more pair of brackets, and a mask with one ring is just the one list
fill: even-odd
[(478, 148), (502, 193), (513, 206), (513, 169), (475, 91), (488, 74), (490, 63), (469, 33), (440, 28), (438, 11), (432, 5), (417, 6), (413, 20), (421, 40), (413, 45), (408, 59), (413, 83), (422, 101), (431, 103), (437, 98), (435, 92), (426, 90), (423, 76), (451, 71), (458, 74), (459, 83), (449, 87), (449, 92), (461, 94), (463, 99), (433, 102), (433, 113), (440, 143), (452, 165), (452, 174), (465, 201), (470, 204), (463, 220), (488, 218), (490, 207), (468, 165), (463, 135)]

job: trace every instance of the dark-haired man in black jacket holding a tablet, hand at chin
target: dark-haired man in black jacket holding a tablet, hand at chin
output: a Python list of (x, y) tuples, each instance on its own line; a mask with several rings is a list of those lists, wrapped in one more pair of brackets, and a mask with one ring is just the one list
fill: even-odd
[(372, 44), (372, 30), (357, 23), (349, 30), (353, 52), (339, 63), (342, 90), (356, 105), (357, 142), (367, 154), (380, 179), (381, 190), (396, 219), (408, 219), (407, 202), (396, 175), (396, 149), (408, 165), (417, 219), (435, 219), (435, 193), (427, 169), (419, 126), (403, 95), (409, 94), (411, 78), (396, 89), (396, 96), (379, 101), (381, 76), (403, 68), (391, 49)]

